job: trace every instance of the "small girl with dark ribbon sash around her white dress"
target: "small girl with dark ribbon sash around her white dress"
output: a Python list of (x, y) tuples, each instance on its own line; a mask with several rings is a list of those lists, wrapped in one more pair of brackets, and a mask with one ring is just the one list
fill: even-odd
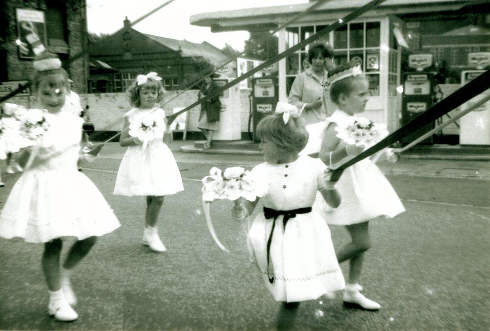
[[(312, 212), (317, 191), (332, 207), (339, 205), (340, 196), (334, 183), (324, 178), (326, 166), (320, 160), (298, 155), (308, 133), (297, 114), (286, 123), (283, 114), (263, 118), (257, 134), (265, 163), (252, 172), (270, 187), (261, 198), (264, 211), (253, 221), (248, 241), (267, 289), (283, 302), (277, 318), (277, 327), (283, 329), (293, 327), (299, 302), (344, 288), (330, 230)], [(232, 216), (251, 214), (258, 201), (235, 205)]]

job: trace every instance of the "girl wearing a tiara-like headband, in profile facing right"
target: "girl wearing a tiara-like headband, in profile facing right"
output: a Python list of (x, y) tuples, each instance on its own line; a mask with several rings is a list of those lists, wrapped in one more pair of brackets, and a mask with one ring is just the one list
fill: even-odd
[[(319, 150), (319, 158), (326, 165), (344, 162), (348, 157), (361, 153), (364, 148), (346, 145), (336, 135), (339, 121), (349, 116), (364, 112), (368, 102), (368, 81), (360, 67), (344, 64), (330, 72), (330, 97), (338, 109), (327, 118), (323, 140)], [(389, 161), (396, 162), (398, 155), (393, 154)], [(398, 195), (381, 170), (370, 160), (365, 159), (343, 171), (337, 187), (342, 195), (342, 203), (338, 208), (329, 208), (317, 196), (313, 209), (321, 214), (330, 225), (344, 225), (352, 241), (337, 250), (339, 263), (349, 260), (349, 278), (343, 293), (346, 306), (377, 310), (381, 306), (366, 298), (359, 291), (364, 253), (369, 249), (369, 219), (386, 215), (394, 217), (403, 213)]]

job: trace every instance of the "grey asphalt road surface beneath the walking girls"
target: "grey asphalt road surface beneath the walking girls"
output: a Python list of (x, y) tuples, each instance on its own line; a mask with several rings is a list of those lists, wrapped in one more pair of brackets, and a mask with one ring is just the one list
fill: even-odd
[[(0, 239), (0, 329), (273, 329), (279, 306), (249, 262), (246, 222), (230, 219), (229, 201), (211, 205), (217, 235), (231, 251), (225, 253), (208, 233), (200, 202), (200, 179), (212, 166), (251, 168), (262, 159), (180, 152), (190, 143), (171, 145), (185, 191), (165, 198), (159, 217), (168, 248), (163, 254), (141, 244), (144, 198), (112, 195), (124, 149), (108, 143), (84, 166), (122, 227), (99, 238), (73, 271), (77, 321), (57, 322), (47, 315), (43, 246)], [(340, 295), (319, 298), (301, 305), (296, 329), (489, 330), (489, 162), (402, 157), (379, 166), (407, 209), (394, 219), (370, 222), (373, 246), (360, 283), (382, 309), (346, 309)], [(18, 176), (2, 174), (6, 186), (0, 202)], [(343, 227), (332, 226), (331, 232), (335, 246), (348, 242)], [(346, 265), (343, 270), (346, 275)]]

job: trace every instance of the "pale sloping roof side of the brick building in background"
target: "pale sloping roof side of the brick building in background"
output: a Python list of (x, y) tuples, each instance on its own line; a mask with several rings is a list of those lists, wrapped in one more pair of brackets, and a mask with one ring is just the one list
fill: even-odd
[(208, 42), (197, 44), (187, 40), (176, 40), (147, 33), (144, 33), (144, 35), (163, 46), (169, 47), (175, 51), (181, 51), (182, 56), (202, 56), (215, 65), (223, 64), (228, 61), (228, 57), (221, 51), (221, 49), (214, 47)]

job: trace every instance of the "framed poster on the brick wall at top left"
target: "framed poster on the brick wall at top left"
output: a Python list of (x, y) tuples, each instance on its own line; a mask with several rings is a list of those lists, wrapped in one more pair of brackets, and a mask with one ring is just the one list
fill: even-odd
[(46, 50), (47, 37), (44, 12), (17, 8), (16, 17), (19, 57), (33, 59)]

